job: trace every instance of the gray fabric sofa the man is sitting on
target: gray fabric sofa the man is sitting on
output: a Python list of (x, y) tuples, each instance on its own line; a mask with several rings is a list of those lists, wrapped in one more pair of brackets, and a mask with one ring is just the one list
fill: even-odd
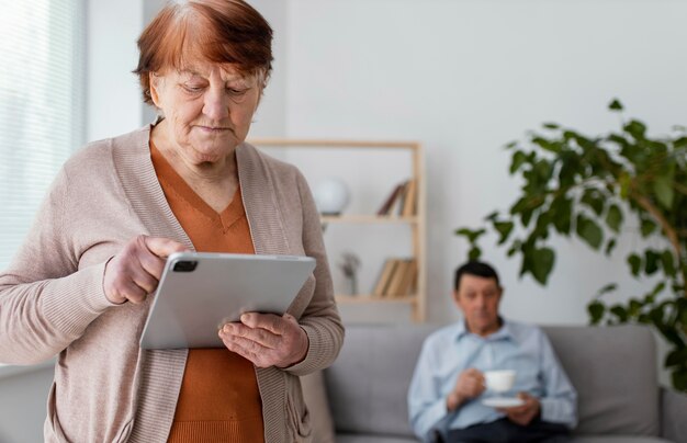
[[(431, 326), (349, 325), (324, 372), (337, 443), (416, 442), (406, 391)], [(578, 443), (687, 443), (687, 396), (657, 385), (644, 327), (543, 328), (578, 391)]]

